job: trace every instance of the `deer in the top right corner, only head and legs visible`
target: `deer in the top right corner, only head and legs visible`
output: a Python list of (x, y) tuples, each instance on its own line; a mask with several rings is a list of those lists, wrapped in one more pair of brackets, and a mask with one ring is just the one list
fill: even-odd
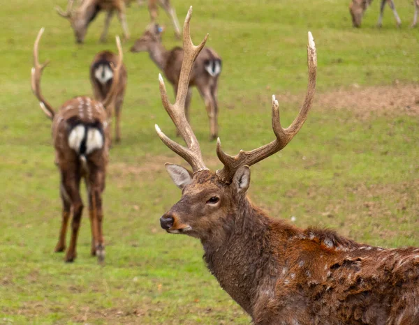
[[(352, 0), (351, 4), (349, 5), (349, 12), (351, 13), (353, 27), (361, 27), (362, 16), (364, 15), (367, 8), (371, 6), (371, 3), (372, 0)], [(400, 25), (402, 24), (402, 20), (400, 20), (400, 17), (397, 14), (397, 10), (393, 0), (381, 0), (380, 16), (378, 17), (377, 27), (381, 27), (383, 24), (383, 13), (385, 3), (388, 3), (388, 6), (390, 6), (393, 15), (395, 16), (397, 27), (400, 27)], [(416, 25), (418, 24), (419, 0), (413, 0), (413, 3), (415, 4), (415, 13), (413, 15), (413, 22), (411, 24), (412, 28), (416, 27)]]

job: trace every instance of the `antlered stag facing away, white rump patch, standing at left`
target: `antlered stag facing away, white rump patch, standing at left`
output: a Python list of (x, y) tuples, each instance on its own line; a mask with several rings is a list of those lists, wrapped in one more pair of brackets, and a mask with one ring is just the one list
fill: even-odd
[(84, 179), (89, 196), (89, 218), (91, 225), (91, 255), (98, 261), (105, 258), (103, 243), (102, 192), (105, 189), (106, 166), (109, 156), (108, 114), (105, 107), (113, 105), (117, 96), (119, 71), (122, 67), (122, 48), (117, 38), (119, 59), (113, 70), (112, 87), (108, 96), (101, 101), (80, 96), (67, 100), (58, 112), (47, 102), (41, 93), (41, 76), (47, 63), (38, 61), (38, 44), (44, 29), (38, 33), (34, 45), (34, 68), (31, 70), (31, 88), (39, 100), (41, 108), (52, 120), (52, 139), (55, 147), (55, 160), (61, 174), (59, 186), (63, 204), (62, 224), (55, 252), (66, 249), (66, 230), (71, 208), (71, 241), (66, 252), (66, 262), (73, 262), (83, 203), (80, 197), (80, 181)]

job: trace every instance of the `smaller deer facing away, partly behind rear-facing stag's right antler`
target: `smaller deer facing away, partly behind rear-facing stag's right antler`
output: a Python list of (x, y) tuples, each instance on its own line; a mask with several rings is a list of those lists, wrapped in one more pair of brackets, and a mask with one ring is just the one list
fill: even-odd
[[(112, 89), (112, 65), (117, 66), (118, 59), (119, 56), (110, 51), (99, 52), (98, 54), (96, 54), (96, 56), (94, 56), (93, 62), (91, 62), (90, 66), (90, 82), (93, 88), (95, 100), (105, 100), (106, 96), (108, 96), (109, 91)], [(119, 83), (117, 84), (115, 95), (115, 135), (117, 142), (121, 141), (121, 129), (119, 123), (121, 118), (122, 103), (124, 103), (126, 79), (126, 67), (123, 63), (119, 72)], [(107, 108), (108, 116), (111, 117), (113, 113), (113, 107)], [(112, 136), (110, 136), (110, 139), (112, 139)]]

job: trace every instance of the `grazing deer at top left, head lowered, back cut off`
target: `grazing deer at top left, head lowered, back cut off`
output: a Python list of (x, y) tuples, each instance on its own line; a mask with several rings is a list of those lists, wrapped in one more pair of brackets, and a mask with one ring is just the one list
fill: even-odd
[[(58, 6), (56, 10), (61, 17), (66, 18), (70, 22), (77, 43), (84, 42), (87, 28), (89, 27), (89, 24), (96, 18), (98, 13), (101, 11), (106, 11), (105, 26), (103, 27), (103, 32), (100, 38), (100, 41), (104, 43), (108, 35), (110, 21), (112, 20), (115, 11), (117, 12), (119, 22), (122, 24), (124, 39), (129, 39), (130, 36), (128, 31), (128, 24), (126, 22), (125, 10), (126, 6), (129, 6), (133, 1), (134, 0), (82, 0), (79, 1), (80, 6), (73, 10), (74, 0), (68, 0), (66, 11), (61, 10), (61, 8)], [(148, 1), (150, 17), (152, 17), (152, 21), (155, 21), (157, 17), (157, 0)], [(138, 1), (138, 3), (140, 3), (140, 1)], [(159, 4), (170, 16), (172, 23), (175, 26), (175, 35), (177, 38), (179, 38), (179, 22), (177, 21), (175, 9), (170, 6), (169, 0), (159, 0)]]

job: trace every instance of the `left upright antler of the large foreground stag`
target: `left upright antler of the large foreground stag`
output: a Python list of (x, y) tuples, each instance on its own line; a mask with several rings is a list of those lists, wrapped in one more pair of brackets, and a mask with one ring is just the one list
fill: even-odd
[(155, 128), (161, 141), (163, 141), (164, 144), (166, 144), (166, 146), (168, 146), (172, 151), (175, 151), (175, 153), (184, 158), (184, 160), (186, 160), (189, 163), (189, 165), (191, 165), (193, 172), (198, 172), (200, 170), (207, 169), (207, 167), (205, 167), (198, 140), (196, 139), (196, 136), (193, 134), (191, 126), (186, 120), (185, 100), (189, 89), (189, 80), (191, 79), (193, 63), (195, 62), (196, 56), (198, 56), (200, 51), (203, 49), (205, 43), (207, 42), (208, 34), (207, 36), (205, 36), (204, 40), (200, 43), (200, 45), (193, 45), (191, 40), (191, 33), (189, 31), (189, 22), (191, 21), (191, 15), (192, 6), (189, 8), (184, 23), (184, 58), (182, 62), (182, 70), (180, 72), (179, 77), (179, 86), (176, 95), (176, 102), (174, 105), (172, 105), (168, 100), (168, 94), (166, 92), (166, 87), (164, 85), (163, 78), (159, 74), (161, 101), (163, 103), (164, 108), (168, 112), (170, 119), (172, 119), (173, 123), (175, 123), (175, 126), (179, 131), (179, 134), (182, 136), (182, 138), (186, 142), (186, 146), (188, 147), (185, 148), (184, 146), (181, 146), (180, 144), (174, 142), (172, 139), (169, 139), (169, 137), (167, 137), (163, 132), (161, 132), (157, 124)]

